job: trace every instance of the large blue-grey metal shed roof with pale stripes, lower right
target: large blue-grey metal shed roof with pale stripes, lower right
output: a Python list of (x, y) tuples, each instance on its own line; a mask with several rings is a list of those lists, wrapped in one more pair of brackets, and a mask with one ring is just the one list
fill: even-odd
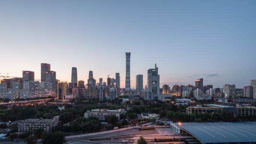
[(256, 142), (256, 122), (182, 123), (181, 129), (202, 143)]

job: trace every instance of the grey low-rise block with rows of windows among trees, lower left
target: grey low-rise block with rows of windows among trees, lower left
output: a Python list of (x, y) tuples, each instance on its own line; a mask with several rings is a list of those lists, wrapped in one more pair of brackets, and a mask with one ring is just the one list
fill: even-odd
[(58, 125), (58, 120), (54, 119), (26, 119), (18, 122), (18, 132), (33, 132), (35, 129), (43, 129), (49, 132), (52, 127)]

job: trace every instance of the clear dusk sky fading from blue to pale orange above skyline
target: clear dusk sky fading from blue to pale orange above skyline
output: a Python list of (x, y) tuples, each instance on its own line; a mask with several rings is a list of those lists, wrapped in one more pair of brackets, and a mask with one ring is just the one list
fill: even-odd
[(135, 77), (158, 66), (160, 87), (204, 78), (214, 88), (238, 88), (256, 79), (255, 0), (1, 0), (2, 76), (22, 77), (40, 63), (57, 79), (87, 82), (89, 71), (106, 82), (120, 73), (125, 86), (125, 52)]

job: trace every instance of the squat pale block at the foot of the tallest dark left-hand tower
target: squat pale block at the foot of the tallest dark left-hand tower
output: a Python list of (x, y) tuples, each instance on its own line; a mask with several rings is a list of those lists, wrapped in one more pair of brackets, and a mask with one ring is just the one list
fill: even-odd
[(40, 97), (52, 96), (52, 83), (51, 82), (41, 82), (39, 84), (39, 96)]

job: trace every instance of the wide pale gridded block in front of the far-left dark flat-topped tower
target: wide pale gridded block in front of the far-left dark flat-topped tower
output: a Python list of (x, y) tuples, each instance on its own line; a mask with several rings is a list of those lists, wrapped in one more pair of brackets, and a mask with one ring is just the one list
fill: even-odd
[(25, 81), (23, 82), (22, 98), (36, 98), (39, 97), (39, 81)]

